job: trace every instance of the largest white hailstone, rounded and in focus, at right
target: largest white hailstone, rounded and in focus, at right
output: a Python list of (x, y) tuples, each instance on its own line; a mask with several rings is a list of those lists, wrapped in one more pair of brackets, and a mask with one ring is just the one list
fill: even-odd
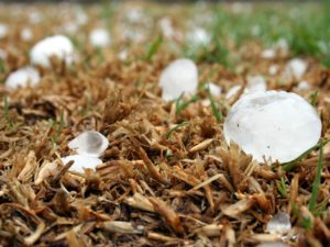
[(237, 143), (254, 159), (290, 161), (316, 145), (321, 135), (316, 110), (300, 96), (285, 91), (246, 94), (224, 122), (227, 143)]

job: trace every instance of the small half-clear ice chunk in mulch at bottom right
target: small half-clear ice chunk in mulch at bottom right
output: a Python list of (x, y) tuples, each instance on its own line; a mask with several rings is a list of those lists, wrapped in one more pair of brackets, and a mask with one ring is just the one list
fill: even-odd
[(266, 231), (271, 234), (283, 235), (292, 229), (290, 216), (287, 213), (277, 213), (267, 223)]

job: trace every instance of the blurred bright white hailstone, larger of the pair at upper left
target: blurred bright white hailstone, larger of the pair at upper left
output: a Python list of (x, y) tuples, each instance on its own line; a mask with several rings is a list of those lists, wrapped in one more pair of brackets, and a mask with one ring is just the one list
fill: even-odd
[(64, 35), (46, 37), (36, 43), (31, 52), (31, 63), (43, 67), (51, 67), (51, 57), (64, 60), (70, 65), (74, 60), (74, 45), (70, 40)]

